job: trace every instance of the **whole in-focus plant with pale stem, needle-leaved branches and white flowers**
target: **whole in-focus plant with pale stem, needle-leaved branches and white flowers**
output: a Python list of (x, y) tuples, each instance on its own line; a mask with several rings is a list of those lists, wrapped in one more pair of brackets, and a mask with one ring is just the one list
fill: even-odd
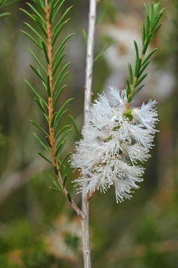
[[(70, 153), (62, 158), (62, 149), (66, 145), (70, 129), (68, 129), (68, 125), (62, 128), (59, 126), (60, 119), (67, 113), (65, 107), (71, 99), (66, 100), (60, 109), (57, 109), (57, 100), (66, 88), (63, 83), (68, 73), (67, 67), (70, 64), (70, 62), (62, 63), (66, 55), (64, 50), (67, 41), (73, 34), (60, 39), (60, 44), (57, 39), (59, 41), (60, 33), (62, 30), (64, 31), (64, 26), (67, 25), (69, 20), (67, 15), (71, 7), (61, 14), (61, 7), (65, 0), (33, 0), (33, 2), (34, 5), (27, 3), (32, 12), (29, 13), (22, 9), (33, 22), (33, 24), (25, 23), (30, 32), (22, 32), (39, 48), (46, 61), (46, 64), (43, 65), (39, 56), (29, 48), (29, 52), (37, 62), (36, 67), (29, 66), (39, 77), (41, 86), (43, 86), (43, 94), (41, 94), (39, 88), (36, 90), (31, 82), (27, 80), (25, 82), (36, 95), (35, 101), (48, 124), (48, 131), (46, 131), (39, 126), (39, 123), (32, 120), (34, 126), (39, 128), (45, 136), (46, 142), (43, 142), (36, 134), (34, 134), (34, 137), (48, 154), (47, 156), (38, 152), (39, 156), (53, 167), (55, 176), (43, 170), (43, 173), (53, 181), (55, 187), (51, 188), (64, 195), (81, 220), (84, 267), (91, 267), (88, 222), (90, 199), (97, 189), (105, 192), (111, 185), (115, 186), (117, 201), (130, 198), (132, 189), (137, 189), (137, 182), (142, 181), (144, 168), (140, 163), (150, 157), (149, 150), (153, 146), (153, 136), (156, 133), (155, 125), (158, 121), (156, 102), (150, 100), (148, 104), (143, 103), (141, 107), (132, 107), (130, 102), (144, 87), (141, 84), (147, 75), (144, 74), (144, 70), (149, 65), (149, 58), (156, 51), (156, 48), (149, 55), (146, 55), (146, 50), (161, 26), (158, 22), (164, 9), (158, 11), (159, 4), (151, 4), (151, 13), (149, 14), (145, 5), (146, 27), (142, 22), (143, 47), (141, 53), (139, 53), (137, 42), (134, 41), (136, 50), (135, 68), (132, 68), (130, 64), (128, 65), (130, 80), (126, 81), (125, 91), (111, 88), (112, 99), (110, 102), (105, 95), (100, 95), (90, 107), (93, 62), (100, 58), (107, 49), (104, 48), (94, 58), (95, 25), (101, 20), (101, 16), (96, 20), (96, 9), (100, 1), (90, 0), (88, 36), (83, 30), (83, 36), (87, 44), (84, 127), (82, 139), (76, 146), (76, 153), (71, 157), (71, 166), (79, 168), (81, 174), (74, 180), (79, 185), (79, 192), (82, 192), (82, 207), (79, 208), (71, 199), (71, 194), (66, 187), (69, 168), (67, 160)], [(61, 14), (60, 17), (58, 13)], [(71, 119), (78, 138), (81, 138), (72, 116)]]

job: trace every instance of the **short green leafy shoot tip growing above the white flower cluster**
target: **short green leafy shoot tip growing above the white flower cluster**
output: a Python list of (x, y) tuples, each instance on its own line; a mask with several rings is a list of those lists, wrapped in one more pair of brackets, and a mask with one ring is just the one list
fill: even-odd
[(132, 66), (130, 65), (130, 63), (128, 63), (130, 81), (126, 79), (126, 95), (128, 99), (127, 109), (130, 107), (130, 102), (132, 101), (132, 98), (144, 87), (144, 85), (139, 86), (140, 83), (142, 83), (142, 81), (147, 76), (147, 73), (143, 74), (144, 70), (150, 64), (149, 59), (157, 50), (157, 48), (154, 48), (151, 53), (149, 53), (149, 55), (146, 55), (146, 50), (149, 46), (149, 43), (151, 42), (155, 34), (158, 32), (158, 29), (160, 29), (161, 25), (163, 25), (163, 23), (158, 24), (158, 22), (162, 17), (165, 8), (158, 11), (159, 6), (159, 3), (152, 3), (151, 13), (149, 14), (148, 8), (146, 4), (144, 4), (144, 8), (146, 11), (146, 27), (144, 25), (144, 22), (142, 22), (142, 52), (140, 54), (137, 41), (134, 40), (136, 51), (134, 76)]

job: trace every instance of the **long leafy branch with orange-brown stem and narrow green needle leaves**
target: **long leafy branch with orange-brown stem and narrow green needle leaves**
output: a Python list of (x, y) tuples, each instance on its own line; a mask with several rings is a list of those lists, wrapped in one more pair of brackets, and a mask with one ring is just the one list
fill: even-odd
[[(67, 191), (65, 186), (67, 176), (69, 175), (69, 164), (67, 159), (70, 156), (70, 152), (61, 159), (62, 149), (67, 142), (67, 135), (71, 131), (69, 125), (64, 126), (63, 128), (58, 128), (62, 116), (66, 114), (68, 109), (65, 109), (67, 104), (72, 100), (69, 99), (59, 110), (56, 109), (57, 100), (59, 100), (62, 91), (67, 87), (67, 85), (62, 86), (62, 83), (67, 76), (67, 67), (69, 67), (71, 62), (67, 62), (63, 67), (62, 60), (67, 54), (64, 52), (66, 43), (74, 34), (69, 34), (63, 41), (60, 43), (60, 46), (56, 47), (56, 41), (62, 32), (62, 29), (67, 25), (69, 19), (66, 19), (67, 14), (71, 10), (71, 7), (67, 8), (62, 16), (55, 22), (55, 17), (60, 11), (64, 1), (59, 0), (33, 0), (35, 6), (27, 3), (29, 8), (32, 10), (32, 13), (29, 13), (25, 9), (20, 8), (36, 25), (39, 26), (40, 31), (36, 30), (31, 24), (26, 23), (27, 27), (31, 30), (32, 34), (29, 32), (22, 31), (43, 53), (43, 58), (46, 60), (46, 65), (39, 60), (39, 56), (29, 48), (29, 53), (32, 54), (36, 60), (37, 66), (29, 65), (32, 71), (38, 76), (41, 80), (41, 83), (46, 92), (46, 100), (41, 96), (41, 94), (32, 86), (29, 81), (25, 80), (29, 88), (36, 95), (36, 103), (39, 105), (39, 108), (43, 112), (43, 115), (46, 118), (48, 123), (48, 132), (44, 130), (38, 123), (31, 120), (31, 122), (39, 128), (41, 132), (45, 135), (46, 142), (43, 142), (36, 133), (34, 137), (39, 141), (41, 146), (49, 154), (49, 157), (43, 155), (41, 152), (37, 152), (45, 161), (50, 163), (53, 166), (55, 177), (47, 173), (46, 170), (42, 170), (43, 173), (52, 180), (54, 187), (50, 187), (57, 192), (62, 193), (65, 198), (71, 204), (71, 207), (75, 210), (76, 214), (82, 216), (83, 213), (76, 206), (76, 203), (71, 199), (70, 191)], [(38, 8), (36, 8), (38, 7)], [(57, 73), (57, 70), (61, 67), (60, 72)]]

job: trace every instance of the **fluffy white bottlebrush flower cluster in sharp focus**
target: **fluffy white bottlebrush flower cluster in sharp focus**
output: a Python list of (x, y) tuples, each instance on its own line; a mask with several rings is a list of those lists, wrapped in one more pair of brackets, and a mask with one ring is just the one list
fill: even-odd
[(83, 140), (78, 142), (71, 164), (81, 170), (81, 177), (75, 180), (80, 192), (106, 192), (114, 185), (118, 203), (130, 199), (132, 189), (138, 189), (137, 182), (143, 180), (141, 163), (150, 157), (158, 114), (156, 101), (126, 109), (125, 91), (110, 89), (110, 102), (99, 95), (90, 108)]

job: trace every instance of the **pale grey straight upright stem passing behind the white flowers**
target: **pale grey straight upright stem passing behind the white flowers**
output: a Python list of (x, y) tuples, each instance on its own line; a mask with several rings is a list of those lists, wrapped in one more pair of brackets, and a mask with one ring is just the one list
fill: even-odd
[[(90, 0), (90, 11), (89, 11), (89, 22), (88, 22), (88, 44), (86, 54), (86, 69), (85, 69), (84, 124), (88, 123), (88, 112), (91, 103), (96, 7), (97, 7), (97, 0)], [(81, 219), (84, 267), (90, 268), (91, 258), (90, 258), (90, 230), (89, 230), (89, 198), (88, 196), (84, 196), (84, 194), (82, 194), (82, 212), (84, 215), (84, 217), (82, 217)]]

